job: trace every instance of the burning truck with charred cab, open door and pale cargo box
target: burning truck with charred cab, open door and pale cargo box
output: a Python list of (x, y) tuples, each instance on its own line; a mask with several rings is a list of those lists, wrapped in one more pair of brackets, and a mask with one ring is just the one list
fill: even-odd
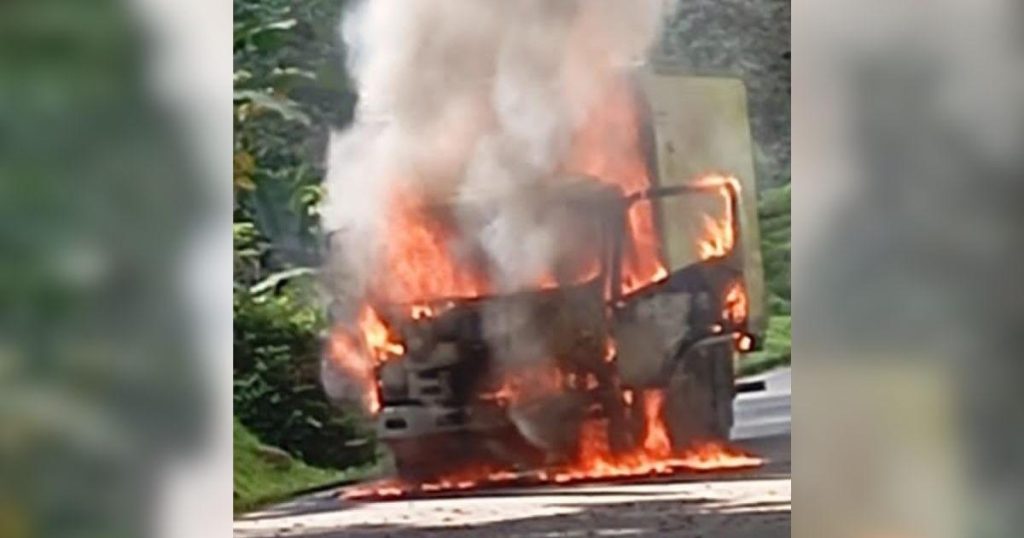
[(357, 387), (404, 483), (757, 462), (720, 443), (737, 351), (764, 330), (742, 84), (648, 68), (566, 155), (502, 193), (547, 231), (511, 238), (546, 253), (529, 285), (503, 285), (479, 244), (499, 201), (409, 188), (389, 193), (365, 292), (334, 296), (325, 368)]

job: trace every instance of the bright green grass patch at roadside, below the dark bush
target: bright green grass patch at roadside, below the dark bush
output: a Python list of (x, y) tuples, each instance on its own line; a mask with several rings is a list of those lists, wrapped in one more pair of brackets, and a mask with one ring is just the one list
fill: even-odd
[(297, 493), (366, 475), (350, 470), (311, 467), (286, 452), (261, 444), (234, 420), (234, 512), (252, 510)]

